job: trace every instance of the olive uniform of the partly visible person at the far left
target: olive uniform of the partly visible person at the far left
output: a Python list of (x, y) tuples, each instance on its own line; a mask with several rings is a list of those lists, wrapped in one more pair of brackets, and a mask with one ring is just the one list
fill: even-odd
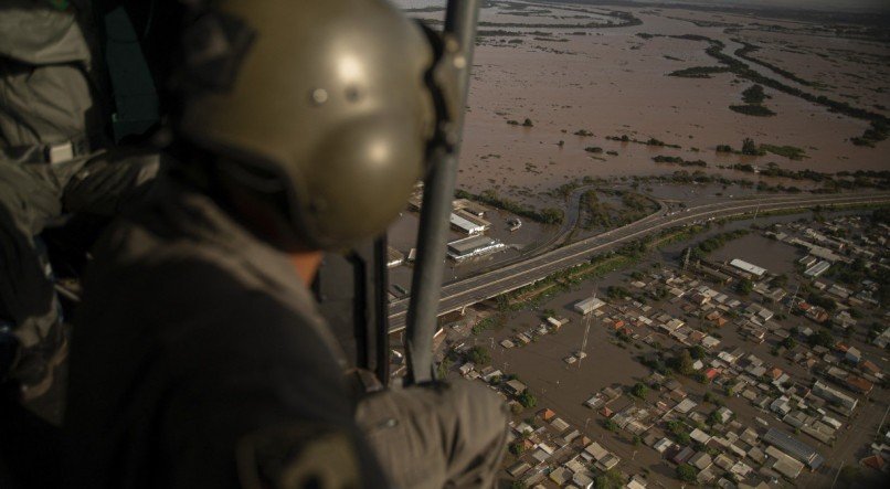
[(0, 322), (25, 349), (60, 321), (36, 236), (68, 213), (113, 215), (160, 168), (150, 151), (103, 149), (108, 87), (92, 6), (56, 3), (71, 4), (0, 3)]

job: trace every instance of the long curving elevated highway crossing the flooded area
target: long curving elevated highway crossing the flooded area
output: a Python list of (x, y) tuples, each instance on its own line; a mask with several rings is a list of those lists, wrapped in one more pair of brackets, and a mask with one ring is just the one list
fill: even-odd
[[(610, 252), (627, 242), (655, 234), (661, 230), (723, 219), (755, 211), (770, 212), (814, 208), (816, 205), (857, 205), (890, 203), (890, 193), (858, 195), (776, 195), (756, 199), (735, 199), (728, 202), (687, 208), (669, 214), (655, 213), (639, 221), (603, 234), (571, 243), (563, 247), (507, 264), (501, 268), (486, 272), (442, 288), (438, 313), (458, 310), (481, 300), (499, 296), (540, 280), (548, 275), (590, 261), (594, 254)], [(409, 297), (390, 304), (390, 331), (401, 331), (405, 327)]]

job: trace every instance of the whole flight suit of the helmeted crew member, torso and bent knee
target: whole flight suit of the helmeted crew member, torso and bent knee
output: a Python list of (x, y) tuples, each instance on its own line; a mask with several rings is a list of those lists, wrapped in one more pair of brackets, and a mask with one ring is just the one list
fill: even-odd
[(99, 241), (75, 321), (72, 487), (477, 487), (506, 444), (483, 385), (357, 400), (288, 255), (162, 180)]

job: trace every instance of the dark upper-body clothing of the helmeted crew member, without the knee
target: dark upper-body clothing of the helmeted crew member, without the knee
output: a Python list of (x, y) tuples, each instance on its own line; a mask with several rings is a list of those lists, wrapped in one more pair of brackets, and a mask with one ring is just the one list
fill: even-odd
[[(353, 460), (365, 487), (384, 486), (356, 428), (342, 354), (287, 256), (206, 196), (174, 183), (155, 196), (106, 233), (87, 275), (65, 416), (68, 485), (275, 479), (320, 427), (348, 440), (328, 457), (347, 460), (338, 469)], [(263, 433), (289, 435), (269, 449)]]

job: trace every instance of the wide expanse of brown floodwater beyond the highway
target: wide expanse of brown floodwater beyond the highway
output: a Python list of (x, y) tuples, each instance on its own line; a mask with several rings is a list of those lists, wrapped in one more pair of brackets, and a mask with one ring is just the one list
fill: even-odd
[[(442, 4), (400, 3), (412, 8)], [(528, 7), (518, 7), (520, 4)], [(522, 11), (526, 14), (517, 14)], [(622, 28), (555, 26), (602, 22), (608, 19), (604, 14), (611, 11), (631, 12), (643, 23)], [(412, 15), (437, 19), (442, 12)], [(701, 159), (709, 164), (706, 171), (733, 179), (756, 180), (757, 176), (713, 167), (775, 162), (786, 169), (823, 172), (890, 170), (890, 141), (880, 142), (876, 148), (849, 142), (850, 137), (860, 136), (868, 127), (866, 121), (830, 113), (771, 88), (765, 89), (771, 98), (764, 105), (777, 113), (776, 116), (737, 114), (728, 107), (742, 104), (741, 93), (751, 82), (731, 73), (716, 74), (711, 78), (666, 76), (676, 70), (717, 65), (717, 61), (704, 53), (706, 42), (659, 36), (643, 39), (636, 34), (706, 35), (725, 43), (724, 53), (730, 55), (741, 47), (733, 40), (753, 43), (761, 50), (751, 56), (820, 85), (804, 86), (766, 67), (748, 63), (759, 73), (816, 95), (883, 114), (886, 109), (875, 106), (890, 107), (890, 87), (887, 86), (890, 49), (886, 45), (828, 36), (817, 31), (819, 25), (803, 22), (680, 9), (561, 8), (549, 3), (499, 2), (484, 9), (481, 19), (489, 24), (480, 29), (504, 30), (510, 34), (483, 38), (476, 51), (458, 176), (458, 184), (467, 190), (496, 189), (533, 205), (545, 205), (552, 201), (544, 192), (574, 178), (666, 174), (681, 169), (654, 163), (651, 158), (657, 155)], [(701, 21), (732, 26), (710, 26), (712, 24)], [(517, 25), (523, 23), (536, 25)], [(773, 26), (783, 30), (776, 31)], [(586, 35), (575, 35), (578, 32)], [(826, 57), (825, 53), (830, 55)], [(533, 121), (533, 127), (507, 124), (526, 118)], [(594, 136), (574, 136), (579, 129), (586, 129)], [(622, 135), (639, 140), (654, 137), (681, 148), (605, 139)], [(775, 155), (751, 158), (716, 153), (717, 145), (739, 148), (745, 137), (759, 143), (803, 148), (807, 158), (793, 161)], [(560, 140), (564, 141), (562, 146), (558, 145)], [(586, 152), (590, 146), (604, 151)]]

